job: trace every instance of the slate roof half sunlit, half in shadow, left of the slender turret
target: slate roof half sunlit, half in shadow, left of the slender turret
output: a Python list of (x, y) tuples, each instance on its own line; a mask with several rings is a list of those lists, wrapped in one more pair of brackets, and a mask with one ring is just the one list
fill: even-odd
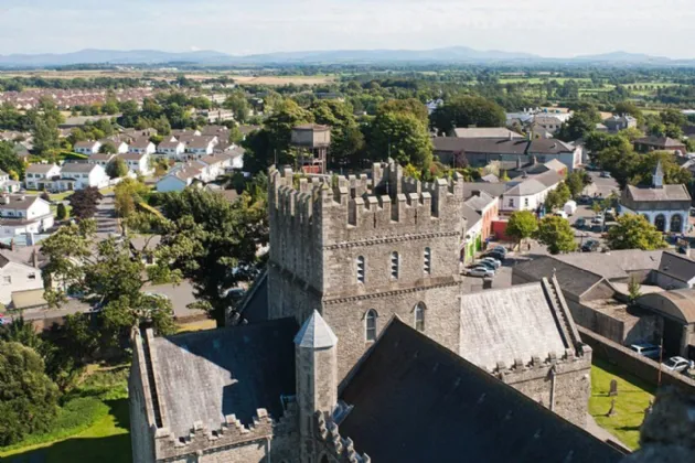
[(150, 352), (165, 426), (175, 437), (196, 421), (220, 429), (227, 414), (248, 426), (258, 408), (278, 419), (280, 396), (295, 394), (295, 319), (282, 319), (156, 337)]

